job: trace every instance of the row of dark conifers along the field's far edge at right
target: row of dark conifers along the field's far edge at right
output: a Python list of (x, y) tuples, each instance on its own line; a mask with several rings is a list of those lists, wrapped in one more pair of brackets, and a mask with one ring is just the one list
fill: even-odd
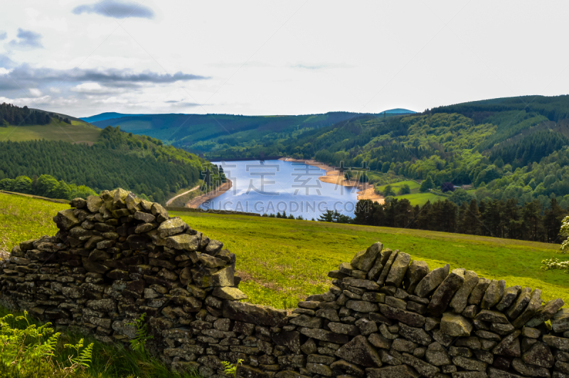
[(357, 225), (425, 229), (533, 242), (561, 243), (559, 230), (568, 210), (552, 198), (549, 206), (534, 200), (519, 206), (514, 198), (482, 200), (472, 198), (460, 205), (450, 199), (411, 205), (407, 199), (393, 198), (379, 204), (359, 200), (354, 217)]

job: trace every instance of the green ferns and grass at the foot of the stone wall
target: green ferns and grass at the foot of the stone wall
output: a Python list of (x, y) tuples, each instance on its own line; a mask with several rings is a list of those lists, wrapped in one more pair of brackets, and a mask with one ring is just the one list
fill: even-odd
[(171, 372), (141, 350), (74, 330), (55, 333), (26, 313), (0, 308), (0, 317), (0, 378), (200, 378)]

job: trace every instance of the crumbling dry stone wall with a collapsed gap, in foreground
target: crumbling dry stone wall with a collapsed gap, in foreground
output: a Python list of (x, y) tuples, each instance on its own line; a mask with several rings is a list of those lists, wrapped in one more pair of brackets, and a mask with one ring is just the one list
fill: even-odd
[(240, 359), (240, 377), (569, 378), (569, 310), (537, 288), (430, 271), (377, 242), (287, 315), (240, 301), (235, 255), (161, 205), (119, 189), (71, 206), (55, 236), (14, 247), (4, 306), (104, 342), (127, 342), (147, 313), (149, 347), (175, 370), (222, 377), (220, 361)]

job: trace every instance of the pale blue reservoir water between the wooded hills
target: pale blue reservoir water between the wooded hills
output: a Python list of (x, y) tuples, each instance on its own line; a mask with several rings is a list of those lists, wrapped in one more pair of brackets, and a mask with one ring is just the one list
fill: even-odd
[(223, 167), (233, 188), (203, 202), (205, 210), (233, 210), (317, 219), (326, 210), (337, 210), (353, 217), (357, 188), (323, 183), (326, 171), (317, 166), (291, 161), (213, 162)]

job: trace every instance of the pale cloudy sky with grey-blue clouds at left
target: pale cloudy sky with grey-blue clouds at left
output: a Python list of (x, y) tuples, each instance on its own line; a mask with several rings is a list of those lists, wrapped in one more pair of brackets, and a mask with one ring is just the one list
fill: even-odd
[(568, 11), (518, 0), (10, 1), (0, 102), (86, 117), (564, 95)]

